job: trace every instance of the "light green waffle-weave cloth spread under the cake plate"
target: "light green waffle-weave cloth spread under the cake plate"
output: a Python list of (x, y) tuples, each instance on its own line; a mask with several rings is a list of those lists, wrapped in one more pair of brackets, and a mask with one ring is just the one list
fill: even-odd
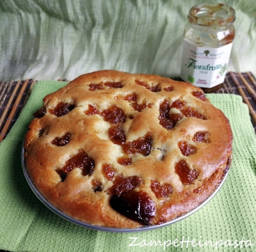
[[(234, 155), (227, 181), (195, 214), (156, 230), (110, 233), (74, 225), (47, 209), (33, 194), (22, 174), (20, 149), (33, 112), (42, 106), (42, 98), (66, 83), (37, 82), (19, 119), (0, 144), (0, 249), (182, 251), (183, 246), (184, 251), (255, 251), (256, 137), (248, 108), (240, 96), (208, 95), (230, 120)], [(195, 241), (191, 242), (193, 239)], [(132, 241), (134, 246), (131, 246)]]

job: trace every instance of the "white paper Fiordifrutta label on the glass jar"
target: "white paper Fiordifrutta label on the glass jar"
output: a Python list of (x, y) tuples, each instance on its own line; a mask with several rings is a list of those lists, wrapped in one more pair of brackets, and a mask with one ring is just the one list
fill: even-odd
[(224, 82), (232, 43), (222, 47), (197, 47), (184, 40), (180, 77), (197, 87), (214, 87)]

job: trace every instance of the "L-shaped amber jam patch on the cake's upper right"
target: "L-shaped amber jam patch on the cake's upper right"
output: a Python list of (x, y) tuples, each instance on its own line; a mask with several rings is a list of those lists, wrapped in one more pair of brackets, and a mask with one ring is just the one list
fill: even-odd
[(164, 100), (159, 107), (159, 123), (166, 130), (172, 130), (175, 127), (177, 122), (182, 119), (182, 114), (169, 114), (170, 112), (170, 103), (167, 100)]

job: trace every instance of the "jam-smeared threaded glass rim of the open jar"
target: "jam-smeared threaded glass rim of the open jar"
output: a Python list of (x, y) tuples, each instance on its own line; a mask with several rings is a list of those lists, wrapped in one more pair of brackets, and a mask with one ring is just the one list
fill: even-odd
[(189, 10), (189, 22), (202, 26), (228, 26), (236, 19), (235, 10), (225, 4), (204, 3)]

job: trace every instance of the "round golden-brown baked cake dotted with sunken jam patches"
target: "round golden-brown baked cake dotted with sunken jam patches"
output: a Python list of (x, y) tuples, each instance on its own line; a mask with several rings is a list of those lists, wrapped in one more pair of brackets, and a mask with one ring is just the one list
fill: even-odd
[(230, 166), (232, 131), (202, 90), (157, 75), (96, 71), (44, 98), (26, 170), (61, 211), (97, 226), (158, 225), (192, 211)]

